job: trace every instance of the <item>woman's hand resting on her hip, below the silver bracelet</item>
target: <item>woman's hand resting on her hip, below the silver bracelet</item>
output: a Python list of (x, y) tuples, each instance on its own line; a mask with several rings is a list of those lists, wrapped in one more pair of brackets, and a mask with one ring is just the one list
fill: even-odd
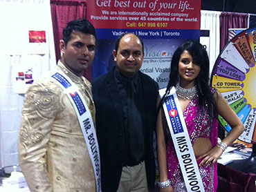
[(207, 153), (197, 157), (196, 160), (200, 160), (201, 158), (204, 157), (203, 160), (200, 162), (199, 166), (208, 166), (209, 164), (210, 166), (213, 166), (217, 162), (222, 153), (223, 151), (221, 150), (221, 148), (219, 148), (219, 146), (214, 146)]

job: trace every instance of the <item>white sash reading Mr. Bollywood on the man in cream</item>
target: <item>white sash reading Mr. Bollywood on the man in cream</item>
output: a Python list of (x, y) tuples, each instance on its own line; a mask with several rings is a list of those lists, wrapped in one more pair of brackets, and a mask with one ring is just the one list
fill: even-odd
[(68, 99), (75, 109), (82, 134), (84, 135), (84, 141), (86, 142), (89, 151), (91, 163), (93, 164), (96, 190), (97, 192), (101, 192), (100, 150), (89, 108), (77, 86), (73, 84), (73, 81), (71, 81), (66, 74), (58, 71), (53, 73), (51, 77), (53, 78), (53, 81), (64, 90), (64, 93), (68, 96)]

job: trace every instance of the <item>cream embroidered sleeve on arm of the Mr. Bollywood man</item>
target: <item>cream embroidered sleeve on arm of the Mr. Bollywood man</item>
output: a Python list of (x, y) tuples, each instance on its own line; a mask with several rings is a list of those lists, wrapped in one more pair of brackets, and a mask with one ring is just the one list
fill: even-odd
[[(53, 87), (51, 87), (53, 88)], [(47, 174), (47, 146), (53, 121), (60, 112), (50, 86), (33, 84), (24, 98), (19, 131), (19, 164), (31, 192), (53, 191)], [(47, 89), (47, 90), (46, 90)]]

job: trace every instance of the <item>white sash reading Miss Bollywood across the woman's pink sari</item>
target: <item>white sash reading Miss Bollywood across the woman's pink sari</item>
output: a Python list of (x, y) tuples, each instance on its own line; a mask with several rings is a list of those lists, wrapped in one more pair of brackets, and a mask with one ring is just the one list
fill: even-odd
[[(159, 90), (161, 97), (165, 94), (165, 90), (165, 88)], [(163, 110), (172, 135), (187, 191), (204, 192), (203, 182), (196, 164), (196, 158), (194, 157), (190, 136), (188, 135), (179, 99), (174, 87), (165, 96)]]

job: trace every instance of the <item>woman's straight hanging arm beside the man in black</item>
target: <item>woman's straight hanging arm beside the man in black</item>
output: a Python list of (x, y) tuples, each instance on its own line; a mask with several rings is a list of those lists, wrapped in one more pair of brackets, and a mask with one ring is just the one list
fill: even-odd
[[(156, 108), (160, 103), (160, 97), (157, 98)], [(165, 146), (165, 135), (163, 133), (163, 124), (162, 124), (162, 111), (160, 110), (157, 115), (156, 120), (156, 140), (157, 140), (157, 158), (158, 158), (158, 167), (160, 173), (160, 182), (167, 181), (167, 165), (166, 165), (166, 146)], [(169, 191), (172, 192), (172, 186), (168, 186), (165, 189), (160, 189), (160, 191)]]

